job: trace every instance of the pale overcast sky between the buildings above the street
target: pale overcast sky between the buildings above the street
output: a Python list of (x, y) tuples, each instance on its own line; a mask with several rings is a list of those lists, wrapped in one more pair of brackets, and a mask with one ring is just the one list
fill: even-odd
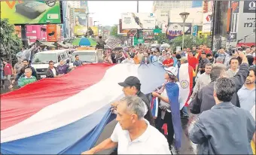
[[(153, 1), (139, 2), (140, 13), (151, 13)], [(137, 12), (136, 1), (88, 1), (90, 15), (94, 21), (99, 21), (103, 26), (118, 24), (121, 13)], [(97, 23), (96, 23), (97, 24)]]

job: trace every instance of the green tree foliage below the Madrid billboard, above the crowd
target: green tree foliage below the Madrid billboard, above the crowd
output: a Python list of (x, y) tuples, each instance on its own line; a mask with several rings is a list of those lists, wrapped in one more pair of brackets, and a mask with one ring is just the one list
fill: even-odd
[[(193, 38), (192, 35), (184, 35), (184, 47), (192, 48), (193, 46), (199, 46), (201, 44), (206, 44), (207, 46), (211, 46), (211, 39), (209, 38)], [(182, 47), (182, 35), (174, 38), (171, 41), (172, 49), (175, 47)]]

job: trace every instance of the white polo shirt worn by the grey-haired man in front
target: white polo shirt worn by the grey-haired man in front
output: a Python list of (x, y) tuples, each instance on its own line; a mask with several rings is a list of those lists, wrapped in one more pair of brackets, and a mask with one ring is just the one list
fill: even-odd
[(164, 135), (151, 126), (148, 120), (145, 122), (148, 124), (147, 129), (134, 141), (131, 141), (129, 132), (117, 123), (111, 141), (118, 143), (118, 154), (171, 154)]

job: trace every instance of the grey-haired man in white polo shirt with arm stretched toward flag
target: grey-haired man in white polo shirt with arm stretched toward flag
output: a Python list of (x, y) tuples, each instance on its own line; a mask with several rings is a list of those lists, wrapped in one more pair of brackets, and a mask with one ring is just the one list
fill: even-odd
[(144, 103), (138, 96), (126, 96), (117, 104), (117, 125), (111, 137), (82, 154), (94, 154), (116, 147), (118, 154), (171, 154), (167, 139), (144, 117)]

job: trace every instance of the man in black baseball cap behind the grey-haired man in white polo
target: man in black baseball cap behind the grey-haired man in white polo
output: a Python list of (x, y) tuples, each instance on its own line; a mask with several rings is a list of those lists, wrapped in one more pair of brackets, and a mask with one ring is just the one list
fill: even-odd
[[(145, 103), (145, 113), (144, 117), (146, 120), (151, 123), (151, 125), (154, 125), (154, 118), (152, 116), (150, 101), (145, 96), (144, 93), (141, 92), (141, 82), (139, 81), (139, 78), (130, 76), (125, 79), (125, 81), (118, 83), (121, 87), (123, 87), (123, 93), (125, 96), (139, 96), (140, 99)], [(112, 104), (112, 106), (115, 107), (115, 104)]]

